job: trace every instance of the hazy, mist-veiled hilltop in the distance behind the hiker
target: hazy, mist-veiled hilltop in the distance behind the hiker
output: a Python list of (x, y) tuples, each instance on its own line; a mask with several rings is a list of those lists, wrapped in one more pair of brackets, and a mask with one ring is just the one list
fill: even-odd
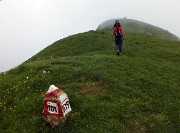
[[(115, 20), (116, 19), (110, 19), (110, 20), (104, 21), (98, 26), (97, 30), (112, 29)], [(143, 34), (143, 35), (152, 36), (159, 39), (179, 40), (177, 36), (170, 33), (169, 31), (159, 28), (157, 26), (153, 26), (148, 23), (144, 23), (138, 20), (133, 20), (133, 19), (127, 19), (127, 18), (121, 18), (118, 20), (120, 20), (120, 23), (123, 26), (125, 32)]]

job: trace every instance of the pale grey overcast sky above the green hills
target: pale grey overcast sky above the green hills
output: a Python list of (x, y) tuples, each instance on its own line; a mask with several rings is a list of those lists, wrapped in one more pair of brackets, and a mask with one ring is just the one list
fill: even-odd
[(180, 37), (179, 13), (180, 0), (0, 0), (0, 72), (112, 18), (126, 16)]

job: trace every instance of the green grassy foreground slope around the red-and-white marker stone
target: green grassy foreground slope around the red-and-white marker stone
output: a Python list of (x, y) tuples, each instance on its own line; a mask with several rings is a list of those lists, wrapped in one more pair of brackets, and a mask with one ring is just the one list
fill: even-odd
[[(126, 33), (123, 48), (117, 56), (111, 31), (90, 31), (1, 73), (0, 132), (180, 131), (180, 42)], [(51, 84), (67, 93), (72, 107), (55, 129), (41, 114)]]

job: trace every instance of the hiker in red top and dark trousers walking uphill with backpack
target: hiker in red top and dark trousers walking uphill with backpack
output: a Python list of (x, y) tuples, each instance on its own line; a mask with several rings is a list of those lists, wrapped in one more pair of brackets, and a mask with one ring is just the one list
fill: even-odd
[(119, 20), (115, 21), (112, 35), (115, 38), (117, 55), (122, 54), (122, 43), (123, 43), (123, 27), (119, 23)]

